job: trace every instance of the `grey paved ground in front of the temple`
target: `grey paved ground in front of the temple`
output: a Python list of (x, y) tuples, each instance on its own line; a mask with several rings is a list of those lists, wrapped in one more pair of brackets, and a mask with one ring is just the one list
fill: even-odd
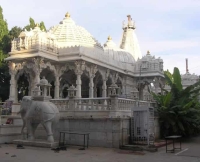
[[(200, 137), (183, 143), (182, 151), (165, 153), (165, 147), (158, 152), (132, 152), (110, 148), (90, 147), (79, 150), (70, 147), (67, 151), (55, 153), (47, 148), (1, 145), (0, 162), (200, 162)], [(12, 156), (15, 157), (12, 157)]]

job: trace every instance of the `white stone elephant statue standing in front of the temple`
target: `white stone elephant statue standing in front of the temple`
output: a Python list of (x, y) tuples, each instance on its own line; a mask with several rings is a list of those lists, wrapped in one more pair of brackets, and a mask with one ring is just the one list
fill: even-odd
[(32, 100), (31, 96), (24, 96), (19, 113), (23, 120), (21, 133), (23, 134), (26, 126), (29, 140), (35, 139), (35, 130), (41, 123), (46, 130), (47, 141), (54, 142), (53, 126), (60, 118), (59, 110), (55, 104), (47, 101), (35, 101)]

